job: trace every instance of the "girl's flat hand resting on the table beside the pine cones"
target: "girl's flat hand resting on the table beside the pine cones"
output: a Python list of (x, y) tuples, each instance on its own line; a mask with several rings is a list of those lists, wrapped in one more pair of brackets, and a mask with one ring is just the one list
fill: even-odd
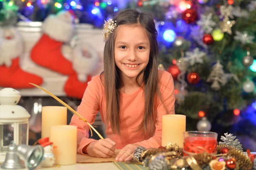
[(132, 157), (130, 155), (132, 155), (134, 153), (134, 150), (137, 147), (140, 147), (140, 145), (138, 145), (138, 144), (128, 144), (128, 145), (126, 145), (124, 148), (122, 148), (122, 150), (116, 156), (116, 161), (120, 161), (120, 162), (130, 161), (132, 159)]

